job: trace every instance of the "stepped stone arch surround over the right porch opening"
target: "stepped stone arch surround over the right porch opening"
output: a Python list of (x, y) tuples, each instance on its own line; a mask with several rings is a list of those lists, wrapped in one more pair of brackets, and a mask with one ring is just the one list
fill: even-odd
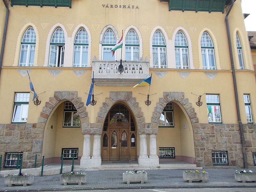
[(164, 97), (159, 98), (159, 102), (156, 103), (155, 111), (151, 117), (151, 128), (158, 129), (158, 122), (160, 115), (162, 114), (164, 107), (170, 101), (178, 101), (179, 104), (187, 112), (192, 127), (198, 124), (198, 118), (195, 113), (195, 108), (192, 108), (192, 103), (188, 102), (188, 98), (184, 98), (184, 92), (164, 92)]

